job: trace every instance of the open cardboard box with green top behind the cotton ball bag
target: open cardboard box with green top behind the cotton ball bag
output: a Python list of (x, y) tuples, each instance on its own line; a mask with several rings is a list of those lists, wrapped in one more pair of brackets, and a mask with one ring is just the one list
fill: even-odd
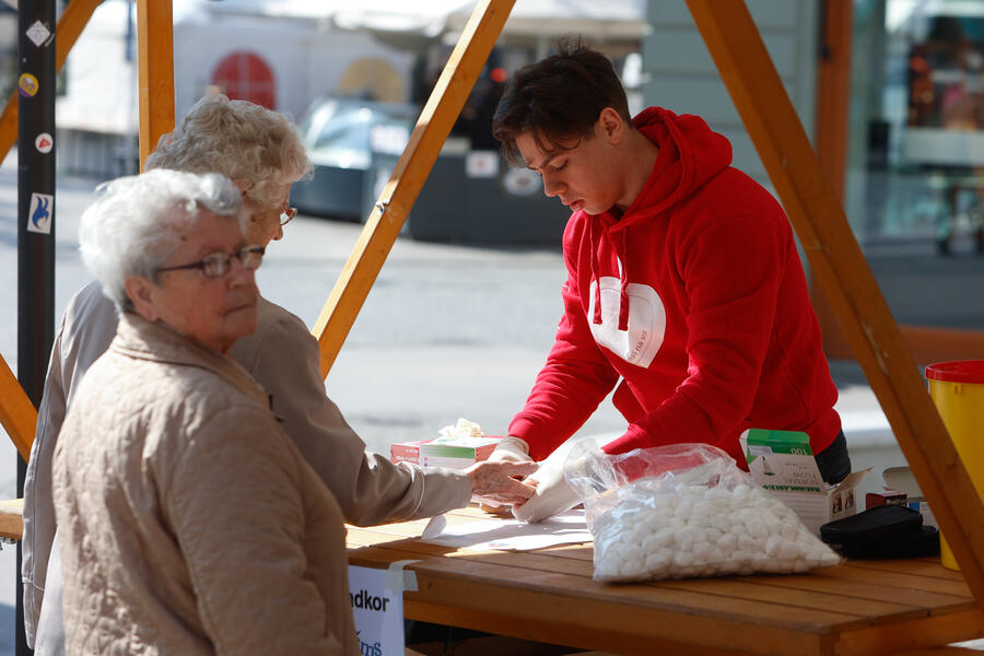
[(820, 534), (821, 525), (857, 512), (855, 488), (867, 469), (828, 487), (806, 433), (751, 429), (740, 441), (752, 480), (789, 506), (815, 534)]

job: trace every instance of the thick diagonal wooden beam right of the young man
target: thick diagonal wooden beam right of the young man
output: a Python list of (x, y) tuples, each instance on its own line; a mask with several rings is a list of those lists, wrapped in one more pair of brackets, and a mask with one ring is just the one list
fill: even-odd
[(857, 361), (891, 423), (979, 606), (984, 504), (827, 184), (741, 0), (687, 0)]

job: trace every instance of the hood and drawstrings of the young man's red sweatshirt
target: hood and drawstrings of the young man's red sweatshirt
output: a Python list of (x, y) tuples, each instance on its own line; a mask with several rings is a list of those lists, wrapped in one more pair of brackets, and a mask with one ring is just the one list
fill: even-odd
[(590, 221), (591, 280), (595, 282), (595, 313), (593, 321), (601, 324), (601, 285), (598, 280), (598, 247), (609, 242), (618, 254), (621, 267), (621, 300), (619, 330), (629, 328), (629, 294), (625, 255), (629, 227), (651, 221), (687, 199), (708, 179), (731, 163), (731, 144), (713, 131), (703, 118), (691, 114), (676, 115), (661, 107), (649, 107), (632, 122), (649, 141), (659, 148), (656, 163), (642, 192), (621, 216), (610, 210)]

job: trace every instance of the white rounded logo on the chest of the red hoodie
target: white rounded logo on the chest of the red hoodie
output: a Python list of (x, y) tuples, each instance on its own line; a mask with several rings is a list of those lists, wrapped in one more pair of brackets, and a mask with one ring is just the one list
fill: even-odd
[[(601, 325), (593, 321), (595, 316), (595, 286), (601, 285)], [(591, 282), (588, 294), (590, 306), (587, 320), (591, 335), (600, 347), (605, 347), (629, 364), (648, 367), (663, 345), (666, 335), (666, 308), (656, 290), (647, 284), (630, 282), (625, 285), (629, 294), (629, 330), (619, 330), (621, 285), (618, 278), (602, 277)]]

